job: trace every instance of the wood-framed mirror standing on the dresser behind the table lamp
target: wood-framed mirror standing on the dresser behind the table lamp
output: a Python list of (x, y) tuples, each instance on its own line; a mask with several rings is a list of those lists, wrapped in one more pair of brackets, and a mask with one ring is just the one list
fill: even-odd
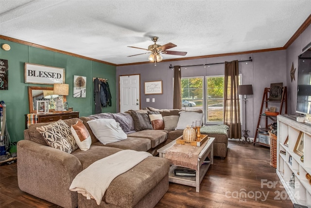
[[(36, 101), (42, 99), (50, 98), (50, 109), (49, 112), (54, 111), (54, 100), (57, 97), (52, 96), (53, 87), (37, 87), (37, 86), (29, 86), (28, 87), (28, 100), (29, 100), (29, 113), (37, 113), (36, 110)], [(49, 97), (50, 96), (50, 97)], [(64, 102), (66, 102), (66, 96), (63, 96)]]

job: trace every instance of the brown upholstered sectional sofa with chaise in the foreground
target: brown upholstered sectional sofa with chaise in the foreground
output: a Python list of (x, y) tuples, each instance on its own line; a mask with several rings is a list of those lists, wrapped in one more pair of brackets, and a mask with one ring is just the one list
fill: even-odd
[[(147, 110), (139, 111), (147, 112)], [(159, 111), (162, 116), (169, 116), (178, 115), (180, 110), (149, 108), (148, 111)], [(128, 113), (100, 113), (64, 120), (69, 126), (82, 120), (92, 139), (89, 150), (77, 149), (70, 154), (48, 146), (42, 135), (36, 131), (36, 127), (47, 123), (32, 124), (24, 131), (24, 140), (17, 143), (19, 188), (65, 208), (154, 207), (168, 190), (170, 168), (167, 159), (155, 156), (146, 158), (131, 171), (116, 177), (106, 190), (100, 206), (97, 206), (95, 200), (87, 200), (82, 194), (69, 190), (75, 176), (99, 159), (125, 149), (148, 151), (156, 155), (156, 150), (182, 135), (183, 130), (172, 129), (132, 131)], [(100, 143), (87, 124), (87, 121), (98, 118), (116, 119), (120, 122), (122, 130), (127, 133), (127, 139), (106, 145)], [(216, 154), (216, 156), (221, 155)]]

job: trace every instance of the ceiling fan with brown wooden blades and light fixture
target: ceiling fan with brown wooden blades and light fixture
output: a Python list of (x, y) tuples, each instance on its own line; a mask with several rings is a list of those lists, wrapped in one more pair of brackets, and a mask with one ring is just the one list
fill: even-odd
[[(142, 54), (151, 54), (149, 56), (149, 61), (151, 62), (160, 62), (163, 57), (161, 56), (161, 54), (170, 54), (170, 55), (177, 55), (177, 56), (185, 56), (187, 54), (187, 52), (182, 52), (182, 51), (167, 51), (167, 49), (176, 47), (177, 45), (169, 42), (165, 45), (158, 45), (156, 44), (156, 41), (158, 41), (158, 37), (152, 37), (151, 40), (154, 41), (153, 45), (149, 45), (148, 49), (145, 48), (138, 48), (138, 47), (134, 47), (134, 46), (127, 46), (127, 47), (131, 47), (131, 48), (138, 48), (138, 49), (142, 49), (142, 50), (147, 50), (149, 52), (146, 53), (142, 53)], [(132, 55), (132, 56), (128, 56), (128, 57), (134, 57), (134, 56), (138, 56), (138, 55), (142, 55), (142, 54), (136, 54), (136, 55)]]

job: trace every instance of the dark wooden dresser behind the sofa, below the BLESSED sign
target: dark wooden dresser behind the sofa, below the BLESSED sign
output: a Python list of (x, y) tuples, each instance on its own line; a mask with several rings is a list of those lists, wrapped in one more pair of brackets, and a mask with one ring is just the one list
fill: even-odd
[(28, 125), (33, 123), (48, 123), (53, 121), (58, 121), (59, 119), (65, 120), (69, 118), (79, 118), (78, 111), (71, 111), (71, 112), (64, 112), (64, 113), (33, 113), (33, 114), (26, 114), (26, 129)]

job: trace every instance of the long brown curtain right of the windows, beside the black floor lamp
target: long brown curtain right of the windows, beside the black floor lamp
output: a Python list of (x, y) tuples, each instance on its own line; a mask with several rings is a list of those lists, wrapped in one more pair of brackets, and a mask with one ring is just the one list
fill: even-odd
[(229, 126), (229, 138), (241, 138), (240, 100), (238, 95), (239, 62), (225, 62), (224, 124)]

